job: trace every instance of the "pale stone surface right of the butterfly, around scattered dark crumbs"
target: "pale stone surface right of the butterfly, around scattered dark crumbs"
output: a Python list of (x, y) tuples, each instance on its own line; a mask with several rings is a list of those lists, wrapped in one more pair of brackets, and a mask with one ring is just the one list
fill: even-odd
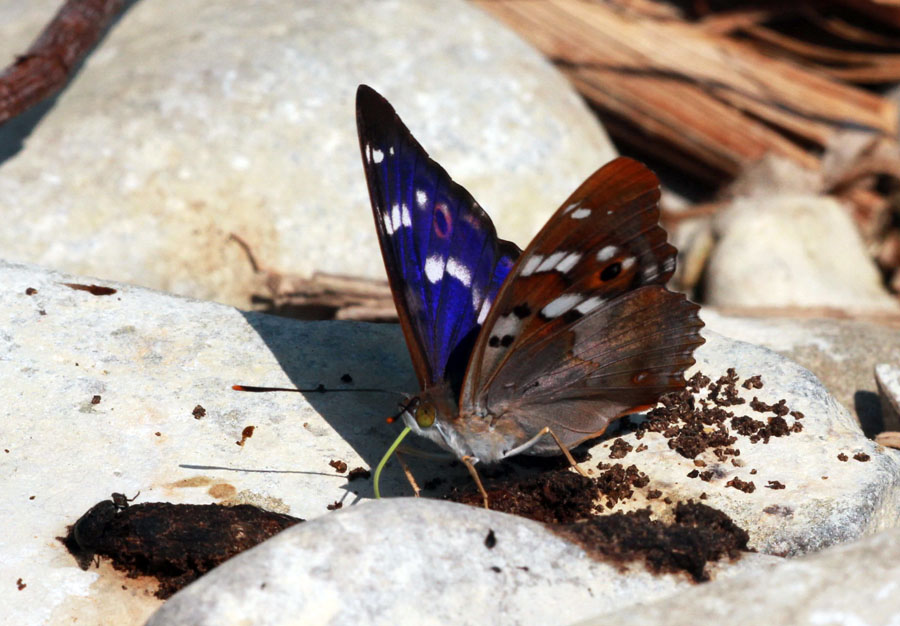
[[(712, 331), (705, 331), (704, 336), (707, 342), (695, 352), (697, 365), (689, 374), (700, 371), (715, 380), (734, 368), (741, 379), (759, 375), (764, 387), (739, 387), (748, 404), (728, 410), (765, 422), (772, 415), (754, 411), (749, 401), (758, 397), (771, 405), (784, 399), (790, 409), (804, 414), (799, 420), (803, 430), (754, 444), (732, 429), (737, 437), (733, 447), (740, 450), (737, 466), (706, 451), (697, 457), (705, 465), (697, 467), (692, 459), (669, 448), (660, 433), (647, 433), (640, 440), (634, 433), (623, 435), (635, 451), (618, 461), (610, 458), (612, 439), (602, 441), (591, 449), (592, 462), (633, 463), (650, 478), (638, 495), (612, 510), (650, 506), (665, 515), (670, 509), (666, 503), (647, 499), (646, 492), (651, 489), (659, 489), (672, 501), (698, 500), (705, 494), (705, 504), (724, 511), (750, 533), (751, 547), (779, 556), (820, 550), (896, 526), (900, 453), (867, 439), (853, 416), (800, 365), (766, 348)], [(786, 416), (789, 424), (794, 419)], [(638, 453), (639, 445), (647, 449)], [(847, 460), (839, 459), (840, 454)], [(855, 459), (858, 454), (868, 455), (868, 459)], [(713, 477), (709, 481), (688, 477), (694, 470), (711, 471)], [(755, 491), (744, 493), (727, 486), (735, 477), (752, 481)], [(769, 481), (778, 481), (785, 488), (767, 488)]]

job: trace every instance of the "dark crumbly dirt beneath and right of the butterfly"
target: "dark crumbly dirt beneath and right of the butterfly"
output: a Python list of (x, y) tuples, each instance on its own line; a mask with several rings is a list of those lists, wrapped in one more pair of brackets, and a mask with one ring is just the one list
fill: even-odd
[[(726, 482), (727, 473), (722, 468), (716, 464), (708, 467), (707, 455), (714, 456), (718, 463), (743, 467), (741, 446), (766, 445), (773, 438), (802, 432), (804, 416), (791, 410), (783, 399), (769, 404), (754, 396), (747, 402), (740, 396), (740, 388), (763, 389), (764, 381), (758, 375), (741, 381), (733, 369), (715, 381), (698, 373), (683, 391), (663, 396), (644, 421), (623, 423), (619, 434), (632, 432), (641, 440), (647, 433), (659, 433), (671, 449), (694, 461), (695, 469), (688, 477), (710, 483), (710, 488), (736, 489), (749, 496), (756, 491), (750, 479), (756, 474), (754, 468), (747, 468), (746, 476), (732, 476)], [(742, 414), (742, 406), (763, 415)], [(654, 572), (683, 571), (695, 581), (706, 580), (706, 564), (726, 556), (734, 559), (747, 551), (748, 534), (725, 513), (692, 501), (673, 502), (651, 485), (639, 468), (640, 453), (647, 449), (643, 443), (632, 446), (622, 438), (613, 440), (609, 459), (627, 460), (601, 462), (596, 466), (599, 473), (594, 471), (590, 478), (571, 471), (562, 457), (517, 458), (506, 465), (532, 470), (530, 475), (523, 477), (500, 466), (484, 471), (482, 478), (491, 509), (548, 524), (598, 558), (623, 565), (642, 560)], [(707, 460), (698, 458), (701, 454)], [(577, 460), (584, 464), (583, 458)], [(770, 480), (765, 486), (785, 488), (779, 480)], [(649, 508), (608, 512), (638, 492), (646, 500), (671, 505), (669, 512), (674, 512), (674, 520), (652, 519)], [(452, 488), (444, 498), (482, 505), (474, 484)], [(701, 500), (706, 499), (704, 493)]]

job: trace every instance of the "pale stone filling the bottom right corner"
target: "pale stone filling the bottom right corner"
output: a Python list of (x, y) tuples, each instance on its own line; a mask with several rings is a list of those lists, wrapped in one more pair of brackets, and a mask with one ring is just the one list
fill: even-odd
[(896, 625), (900, 615), (900, 531), (784, 561), (579, 626), (758, 624)]

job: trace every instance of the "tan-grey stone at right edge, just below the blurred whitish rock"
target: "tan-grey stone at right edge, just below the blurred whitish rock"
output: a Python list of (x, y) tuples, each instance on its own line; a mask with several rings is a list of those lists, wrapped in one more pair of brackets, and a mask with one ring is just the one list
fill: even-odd
[(878, 363), (900, 362), (896, 327), (863, 320), (726, 315), (711, 307), (700, 314), (710, 329), (765, 346), (809, 369), (856, 415), (868, 436), (900, 430), (900, 419), (882, 412), (872, 376)]

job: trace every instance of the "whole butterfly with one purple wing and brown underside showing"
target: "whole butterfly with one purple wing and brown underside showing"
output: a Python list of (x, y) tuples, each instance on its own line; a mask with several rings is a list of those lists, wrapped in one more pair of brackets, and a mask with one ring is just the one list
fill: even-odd
[(684, 388), (703, 322), (699, 306), (665, 288), (676, 250), (647, 167), (624, 157), (601, 167), (523, 252), (366, 85), (356, 120), (420, 385), (379, 469), (412, 431), (462, 460), (487, 504), (476, 463), (568, 455)]

